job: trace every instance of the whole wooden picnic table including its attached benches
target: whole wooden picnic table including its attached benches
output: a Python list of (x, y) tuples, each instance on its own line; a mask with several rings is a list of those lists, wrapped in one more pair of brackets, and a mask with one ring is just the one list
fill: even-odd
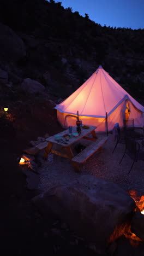
[[(73, 128), (75, 130), (76, 126)], [(49, 138), (46, 138), (45, 142), (38, 144), (36, 147), (39, 150), (44, 149), (44, 159), (47, 159), (47, 156), (49, 155), (49, 153), (63, 156), (64, 158), (69, 158), (75, 170), (79, 171), (80, 164), (85, 162), (91, 155), (93, 155), (101, 146), (103, 146), (104, 143), (106, 143), (108, 139), (107, 136), (103, 136), (103, 138), (99, 141), (95, 133), (96, 128), (97, 128), (96, 126), (89, 125), (88, 129), (82, 129), (81, 134), (78, 137), (70, 138), (69, 141), (67, 141), (67, 144), (64, 144), (63, 140), (56, 141), (55, 140), (56, 135), (53, 135)], [(69, 130), (67, 129), (63, 132), (58, 133), (57, 135), (63, 136), (65, 133), (69, 133)], [(91, 134), (91, 137), (89, 136), (90, 134)], [(90, 140), (91, 144), (89, 144), (89, 146), (87, 146), (77, 155), (74, 155), (71, 146), (75, 142), (80, 141), (80, 139)], [(65, 153), (62, 152), (62, 150), (61, 151), (57, 150), (53, 146), (61, 146), (62, 149), (65, 149)]]

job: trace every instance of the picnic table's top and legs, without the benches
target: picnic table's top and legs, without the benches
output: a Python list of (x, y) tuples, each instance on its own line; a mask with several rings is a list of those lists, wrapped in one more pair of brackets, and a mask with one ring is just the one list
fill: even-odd
[[(76, 141), (79, 141), (82, 138), (89, 139), (91, 141), (96, 141), (97, 135), (95, 133), (95, 129), (97, 129), (97, 126), (89, 125), (88, 129), (83, 129), (81, 127), (80, 135), (77, 137), (73, 137), (73, 135), (72, 135), (69, 138), (69, 141), (65, 141), (64, 137), (62, 137), (63, 141), (56, 141), (56, 139), (55, 139), (55, 136), (63, 136), (67, 133), (69, 134), (69, 129), (59, 132), (56, 135), (53, 135), (49, 138), (46, 138), (46, 141), (48, 142), (48, 144), (47, 144), (47, 147), (45, 148), (44, 158), (47, 159), (47, 156), (51, 152), (53, 154), (63, 156), (64, 158), (69, 158), (70, 160), (73, 159), (74, 153), (73, 153), (73, 150), (71, 149), (71, 145), (73, 145)], [(73, 132), (76, 132), (76, 126), (73, 127)], [(92, 137), (88, 137), (89, 133), (92, 134)], [(65, 144), (64, 142), (67, 144)], [(65, 153), (62, 153), (62, 152), (59, 152), (58, 150), (52, 149), (54, 144), (62, 146), (65, 149)]]

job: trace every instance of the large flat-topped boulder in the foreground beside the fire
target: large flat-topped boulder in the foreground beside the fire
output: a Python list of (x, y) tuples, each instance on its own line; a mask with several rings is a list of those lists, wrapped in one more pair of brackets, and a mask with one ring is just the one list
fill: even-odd
[(89, 175), (53, 187), (33, 202), (41, 213), (54, 214), (77, 235), (94, 242), (98, 252), (124, 234), (136, 208), (135, 201), (116, 184)]

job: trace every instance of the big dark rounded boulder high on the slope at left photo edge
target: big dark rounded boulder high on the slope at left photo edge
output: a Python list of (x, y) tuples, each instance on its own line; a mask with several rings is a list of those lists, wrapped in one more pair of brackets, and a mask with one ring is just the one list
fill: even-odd
[(25, 44), (8, 26), (0, 24), (0, 55), (2, 59), (17, 61), (26, 56)]

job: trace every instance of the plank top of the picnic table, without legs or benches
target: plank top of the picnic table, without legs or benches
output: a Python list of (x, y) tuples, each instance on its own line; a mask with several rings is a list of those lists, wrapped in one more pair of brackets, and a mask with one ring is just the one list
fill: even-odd
[[(65, 130), (65, 131), (62, 131), (62, 132), (59, 132), (59, 133), (57, 133), (57, 134), (55, 134), (55, 135), (53, 135), (53, 136), (51, 136), (51, 137), (49, 137), (49, 138), (46, 138), (46, 141), (47, 141), (47, 142), (52, 142), (52, 143), (55, 143), (55, 144), (59, 144), (59, 145), (62, 145), (62, 146), (64, 146), (64, 147), (69, 147), (69, 146), (70, 146), (71, 144), (73, 144), (74, 142), (79, 141), (79, 139), (81, 139), (82, 137), (88, 135), (88, 134), (89, 134), (90, 132), (92, 132), (93, 130), (97, 129), (97, 126), (92, 126), (92, 125), (88, 125), (88, 126), (89, 126), (88, 129), (83, 129), (83, 128), (81, 127), (81, 134), (80, 134), (79, 136), (77, 136), (77, 137), (74, 137), (74, 136), (72, 135), (72, 137), (69, 138), (69, 141), (65, 141), (65, 138), (62, 137), (63, 141), (66, 142), (67, 144), (64, 144), (62, 141), (56, 141), (55, 136), (56, 136), (56, 135), (58, 135), (58, 136), (63, 136), (63, 135), (65, 135), (66, 133), (71, 134), (71, 133), (69, 133), (69, 129), (67, 129), (67, 130)], [(77, 126), (73, 126), (73, 132), (76, 132), (76, 127), (77, 127)]]

